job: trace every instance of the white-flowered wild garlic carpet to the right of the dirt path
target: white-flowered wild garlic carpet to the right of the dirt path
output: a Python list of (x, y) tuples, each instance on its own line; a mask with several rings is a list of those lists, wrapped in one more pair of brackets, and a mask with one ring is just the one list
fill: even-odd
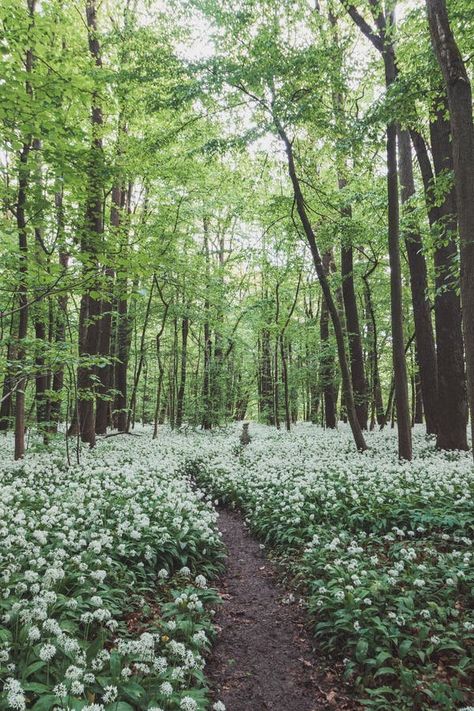
[(291, 568), (318, 649), (365, 705), (460, 708), (474, 672), (472, 463), (421, 429), (400, 463), (394, 437), (372, 433), (360, 455), (344, 429), (258, 427), (244, 448), (214, 438), (193, 470)]

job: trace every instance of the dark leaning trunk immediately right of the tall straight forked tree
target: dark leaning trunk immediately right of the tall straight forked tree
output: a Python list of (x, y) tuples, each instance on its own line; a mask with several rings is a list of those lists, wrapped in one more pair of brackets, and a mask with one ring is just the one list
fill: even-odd
[(405, 206), (407, 221), (404, 238), (410, 268), (416, 350), (426, 417), (426, 430), (428, 434), (436, 434), (438, 430), (438, 378), (433, 325), (431, 323), (431, 305), (428, 298), (428, 276), (426, 260), (423, 254), (423, 241), (418, 225), (414, 224), (415, 218), (410, 204), (410, 200), (415, 194), (410, 136), (407, 131), (400, 129), (398, 130), (398, 153), (400, 192), (402, 204)]

